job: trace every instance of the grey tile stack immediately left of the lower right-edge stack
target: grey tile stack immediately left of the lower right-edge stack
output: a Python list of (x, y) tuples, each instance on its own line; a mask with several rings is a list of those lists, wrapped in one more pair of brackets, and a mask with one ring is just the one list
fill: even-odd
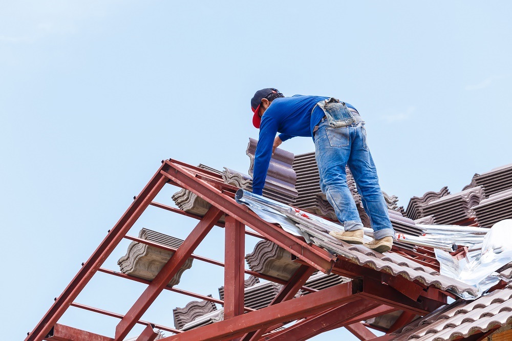
[(424, 216), (433, 216), (437, 224), (454, 224), (472, 218), (471, 208), (484, 198), (482, 186), (432, 200), (421, 208)]

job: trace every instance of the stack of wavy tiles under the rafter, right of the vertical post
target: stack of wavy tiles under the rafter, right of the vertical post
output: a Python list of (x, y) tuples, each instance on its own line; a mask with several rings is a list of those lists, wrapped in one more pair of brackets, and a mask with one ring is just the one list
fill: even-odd
[(268, 240), (259, 241), (245, 256), (249, 269), (288, 281), (301, 265), (291, 260), (291, 253)]

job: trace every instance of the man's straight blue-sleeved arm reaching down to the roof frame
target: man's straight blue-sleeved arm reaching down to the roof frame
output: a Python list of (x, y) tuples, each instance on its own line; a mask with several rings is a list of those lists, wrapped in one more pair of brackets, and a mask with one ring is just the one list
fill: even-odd
[(252, 174), (252, 193), (262, 195), (268, 165), (272, 157), (272, 147), (278, 124), (274, 118), (263, 115), (260, 125), (260, 137), (254, 153), (254, 172)]

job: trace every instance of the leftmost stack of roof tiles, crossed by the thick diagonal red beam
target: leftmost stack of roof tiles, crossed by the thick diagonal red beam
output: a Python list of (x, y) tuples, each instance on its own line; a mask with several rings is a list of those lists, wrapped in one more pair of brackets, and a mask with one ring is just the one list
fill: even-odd
[[(139, 238), (165, 246), (178, 248), (183, 240), (164, 235), (163, 233), (143, 228), (139, 232)], [(152, 281), (160, 272), (174, 252), (162, 250), (139, 242), (131, 242), (126, 255), (121, 257), (117, 264), (122, 273)], [(180, 283), (180, 278), (186, 269), (192, 267), (193, 258), (186, 260), (178, 273), (170, 280), (169, 286)]]

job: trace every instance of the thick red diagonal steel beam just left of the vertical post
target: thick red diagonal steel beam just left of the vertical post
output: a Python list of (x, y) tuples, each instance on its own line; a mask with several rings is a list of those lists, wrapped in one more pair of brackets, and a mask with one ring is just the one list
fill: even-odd
[(163, 266), (155, 279), (147, 286), (146, 290), (144, 290), (132, 308), (130, 308), (126, 315), (121, 319), (116, 327), (116, 341), (122, 340), (130, 332), (138, 319), (157, 299), (158, 295), (190, 257), (190, 254), (196, 249), (222, 214), (223, 212), (214, 206), (206, 212), (206, 215), (190, 232), (190, 235), (188, 235), (181, 246), (176, 250), (173, 257), (171, 257)]

